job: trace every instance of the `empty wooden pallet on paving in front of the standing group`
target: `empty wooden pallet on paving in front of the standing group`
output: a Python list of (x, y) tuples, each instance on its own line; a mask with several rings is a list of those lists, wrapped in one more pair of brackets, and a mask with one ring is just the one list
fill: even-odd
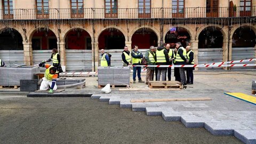
[(181, 82), (178, 82), (178, 81), (149, 81), (148, 86), (150, 89), (156, 89), (156, 88), (164, 88), (164, 89), (179, 88), (179, 89), (182, 89), (183, 88)]

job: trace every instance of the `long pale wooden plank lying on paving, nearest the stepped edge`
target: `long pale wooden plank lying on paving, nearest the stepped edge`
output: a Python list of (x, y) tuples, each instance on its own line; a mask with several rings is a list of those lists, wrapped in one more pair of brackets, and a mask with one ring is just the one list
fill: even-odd
[(159, 101), (201, 101), (211, 98), (170, 98), (170, 99), (132, 99), (131, 102), (159, 102)]

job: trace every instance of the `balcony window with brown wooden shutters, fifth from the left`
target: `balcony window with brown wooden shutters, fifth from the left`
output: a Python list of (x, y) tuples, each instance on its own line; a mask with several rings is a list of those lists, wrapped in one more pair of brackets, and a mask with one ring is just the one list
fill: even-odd
[(138, 13), (139, 18), (150, 18), (151, 0), (138, 0)]

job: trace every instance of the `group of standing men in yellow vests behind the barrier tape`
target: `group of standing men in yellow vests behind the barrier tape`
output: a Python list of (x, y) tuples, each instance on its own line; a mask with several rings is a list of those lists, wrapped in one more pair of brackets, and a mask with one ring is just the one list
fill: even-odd
[[(150, 67), (150, 65), (194, 65), (194, 52), (190, 49), (190, 43), (186, 46), (186, 49), (181, 45), (180, 42), (175, 43), (175, 49), (170, 49), (170, 44), (163, 44), (162, 46), (154, 47), (150, 46), (149, 50), (145, 53), (145, 59), (147, 61), (147, 74), (146, 84), (149, 81), (153, 81), (154, 73), (156, 74), (156, 81), (160, 81), (162, 75), (162, 81), (166, 81), (166, 73), (168, 81), (171, 81), (171, 68), (170, 67)], [(141, 66), (143, 54), (138, 50), (138, 45), (133, 46), (132, 52), (129, 51), (128, 46), (124, 46), (122, 52), (123, 66), (132, 66), (133, 68), (133, 83), (136, 83), (136, 74), (138, 72), (139, 83), (145, 83), (141, 79)], [(105, 50), (101, 50), (101, 66), (110, 66), (110, 58)], [(193, 84), (194, 67), (174, 68), (175, 81), (179, 81), (186, 88), (187, 84)], [(187, 74), (185, 73), (187, 71)]]

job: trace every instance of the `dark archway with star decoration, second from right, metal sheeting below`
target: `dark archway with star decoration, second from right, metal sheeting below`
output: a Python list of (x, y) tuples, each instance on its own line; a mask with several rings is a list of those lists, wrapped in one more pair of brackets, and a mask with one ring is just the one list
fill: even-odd
[(222, 45), (223, 34), (220, 28), (210, 26), (203, 29), (198, 37), (198, 64), (222, 62)]

